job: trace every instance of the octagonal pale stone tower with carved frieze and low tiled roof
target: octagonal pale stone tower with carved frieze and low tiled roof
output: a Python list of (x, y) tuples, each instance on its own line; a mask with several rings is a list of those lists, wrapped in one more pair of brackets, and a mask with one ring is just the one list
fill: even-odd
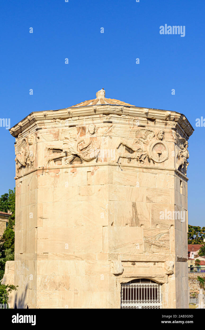
[(128, 300), (139, 297), (121, 290), (133, 280), (160, 294), (134, 308), (188, 308), (193, 128), (184, 115), (108, 99), (102, 89), (33, 112), (10, 132), (17, 308), (133, 308)]

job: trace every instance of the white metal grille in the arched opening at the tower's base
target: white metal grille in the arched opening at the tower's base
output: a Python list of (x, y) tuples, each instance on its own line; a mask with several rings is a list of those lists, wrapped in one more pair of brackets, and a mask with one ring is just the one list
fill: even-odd
[(146, 279), (122, 283), (121, 308), (162, 308), (161, 284)]

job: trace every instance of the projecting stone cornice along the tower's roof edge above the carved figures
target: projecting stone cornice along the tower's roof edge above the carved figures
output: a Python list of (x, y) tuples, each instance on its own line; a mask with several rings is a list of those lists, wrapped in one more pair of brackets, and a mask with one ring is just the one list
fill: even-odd
[(37, 129), (38, 124), (42, 124), (44, 121), (46, 123), (53, 119), (64, 120), (68, 118), (77, 120), (94, 115), (118, 115), (125, 118), (128, 116), (151, 120), (160, 119), (172, 123), (172, 125), (177, 123), (188, 138), (194, 131), (188, 119), (183, 114), (175, 111), (106, 104), (32, 112), (19, 123), (14, 125), (10, 129), (10, 133), (12, 136), (16, 137), (28, 127), (35, 126)]

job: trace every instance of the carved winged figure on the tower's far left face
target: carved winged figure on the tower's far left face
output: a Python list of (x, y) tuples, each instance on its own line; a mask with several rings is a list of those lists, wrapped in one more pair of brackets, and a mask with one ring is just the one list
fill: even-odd
[[(19, 139), (21, 139), (19, 141)], [(26, 138), (21, 138), (21, 134), (18, 136), (18, 141), (16, 145), (16, 173), (19, 174), (19, 171), (22, 167), (33, 167), (35, 160), (36, 144), (33, 135), (29, 135)]]

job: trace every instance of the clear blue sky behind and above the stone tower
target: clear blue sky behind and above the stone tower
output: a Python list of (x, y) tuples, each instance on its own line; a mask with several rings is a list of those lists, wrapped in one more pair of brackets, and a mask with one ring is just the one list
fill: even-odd
[[(204, 12), (203, 0), (2, 1), (0, 117), (12, 127), (32, 111), (93, 99), (102, 87), (110, 98), (183, 113), (195, 129), (189, 223), (204, 226), (205, 127), (195, 127), (205, 118)], [(185, 37), (160, 35), (165, 24), (185, 25)], [(3, 194), (15, 185), (15, 155), (5, 127), (0, 139)]]

